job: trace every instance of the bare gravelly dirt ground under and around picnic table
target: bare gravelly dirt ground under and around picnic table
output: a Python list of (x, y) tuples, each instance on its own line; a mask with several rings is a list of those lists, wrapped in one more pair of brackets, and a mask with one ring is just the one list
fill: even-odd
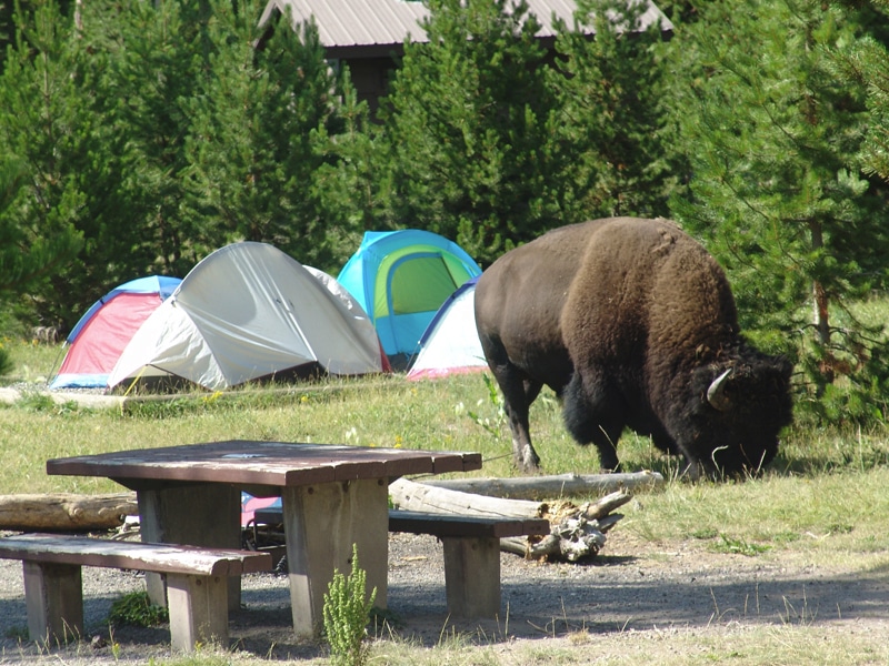
[[(502, 553), (502, 617), (453, 622), (446, 609), (440, 544), (433, 537), (393, 534), (388, 606), (396, 633), (427, 646), (453, 632), (497, 646), (542, 645), (580, 634), (788, 624), (848, 626), (889, 639), (889, 574), (881, 557), (875, 555), (875, 566), (865, 573), (850, 574), (812, 566), (798, 555), (713, 553), (700, 541), (665, 548), (618, 526), (588, 564), (540, 564)], [(27, 634), (21, 564), (0, 562), (0, 664), (146, 664), (169, 657), (166, 628), (116, 629), (117, 654), (90, 647), (91, 636), (109, 635), (103, 620), (111, 602), (141, 589), (142, 581), (137, 573), (84, 569), (83, 584), (87, 640), (63, 650), (38, 650), (19, 638)], [(242, 587), (243, 607), (231, 616), (234, 647), (279, 662), (323, 655), (318, 645), (298, 643), (289, 632), (286, 577), (251, 575)]]

